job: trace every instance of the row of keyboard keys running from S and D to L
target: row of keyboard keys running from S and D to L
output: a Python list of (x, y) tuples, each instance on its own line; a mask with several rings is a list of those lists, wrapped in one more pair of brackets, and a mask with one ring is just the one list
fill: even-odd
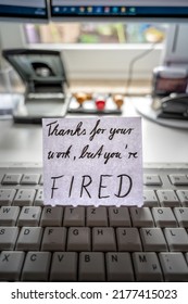
[(0, 251), (183, 251), (185, 228), (1, 227)]

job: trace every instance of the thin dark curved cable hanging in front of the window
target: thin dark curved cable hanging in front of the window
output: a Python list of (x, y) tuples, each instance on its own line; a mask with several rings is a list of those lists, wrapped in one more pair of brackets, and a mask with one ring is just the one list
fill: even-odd
[(155, 48), (156, 45), (159, 45), (161, 41), (156, 41), (154, 43), (151, 45), (151, 48), (148, 50), (145, 50), (143, 52), (139, 53), (138, 55), (136, 55), (129, 63), (128, 66), (128, 76), (127, 76), (127, 84), (126, 84), (126, 91), (127, 91), (127, 96), (129, 96), (128, 91), (129, 91), (129, 87), (133, 80), (133, 71), (134, 71), (134, 65), (135, 63), (142, 59), (143, 56), (148, 55), (150, 52), (152, 52)]

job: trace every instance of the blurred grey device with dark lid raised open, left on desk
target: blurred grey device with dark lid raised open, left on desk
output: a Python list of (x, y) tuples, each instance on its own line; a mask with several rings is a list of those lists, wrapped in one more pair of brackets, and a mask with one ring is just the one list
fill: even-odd
[(11, 49), (3, 56), (25, 85), (24, 103), (13, 112), (16, 123), (41, 123), (41, 117), (64, 116), (70, 102), (67, 76), (61, 53), (50, 50)]

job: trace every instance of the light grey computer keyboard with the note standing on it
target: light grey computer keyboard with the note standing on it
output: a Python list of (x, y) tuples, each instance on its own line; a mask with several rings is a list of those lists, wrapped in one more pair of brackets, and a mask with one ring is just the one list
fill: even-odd
[(143, 207), (52, 207), (39, 164), (1, 164), (0, 281), (188, 281), (188, 164), (143, 173)]

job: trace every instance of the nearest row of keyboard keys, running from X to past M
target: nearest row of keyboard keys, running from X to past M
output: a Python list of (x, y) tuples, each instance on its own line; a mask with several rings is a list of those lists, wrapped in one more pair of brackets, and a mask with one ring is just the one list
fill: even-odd
[[(133, 261), (133, 263), (131, 263)], [(188, 281), (188, 253), (11, 252), (1, 281)]]

